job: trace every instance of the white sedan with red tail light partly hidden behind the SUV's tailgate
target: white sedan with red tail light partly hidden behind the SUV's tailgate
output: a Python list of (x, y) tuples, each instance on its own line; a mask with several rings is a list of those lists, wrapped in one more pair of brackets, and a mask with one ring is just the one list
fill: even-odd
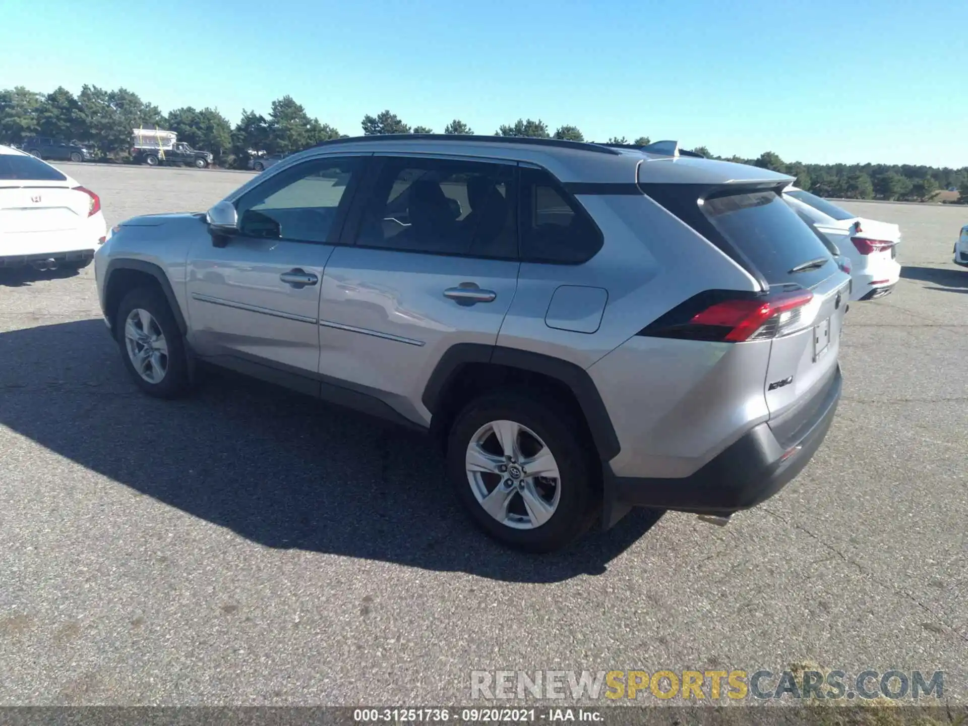
[(787, 187), (783, 197), (805, 222), (850, 259), (851, 300), (873, 300), (891, 293), (901, 276), (896, 259), (900, 227), (858, 217), (796, 187)]

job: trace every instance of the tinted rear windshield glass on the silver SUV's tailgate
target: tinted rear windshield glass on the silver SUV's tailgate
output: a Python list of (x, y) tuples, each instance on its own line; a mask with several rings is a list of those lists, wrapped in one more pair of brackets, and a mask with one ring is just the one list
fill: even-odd
[[(749, 258), (770, 285), (813, 287), (835, 269), (830, 251), (775, 192), (711, 197), (702, 206), (713, 227)], [(824, 262), (795, 271), (819, 259)]]

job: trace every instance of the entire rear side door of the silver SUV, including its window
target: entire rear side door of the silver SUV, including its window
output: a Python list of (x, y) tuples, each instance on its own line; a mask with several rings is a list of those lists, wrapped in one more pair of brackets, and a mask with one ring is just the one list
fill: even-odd
[[(440, 357), (457, 344), (495, 345), (514, 300), (516, 256), (499, 256), (492, 246), (469, 242), (503, 220), (492, 231), (503, 229), (495, 239), (504, 241), (505, 234), (512, 235), (513, 255), (514, 206), (496, 207), (484, 197), (475, 209), (469, 182), (488, 178), (497, 185), (500, 180), (501, 198), (513, 200), (515, 170), (443, 156), (375, 158), (348, 215), (342, 241), (349, 244), (335, 250), (322, 281), (318, 371), (323, 380), (332, 378), (416, 423), (429, 423), (420, 399)], [(415, 189), (421, 190), (416, 198)], [(453, 220), (438, 218), (445, 212), (435, 206), (439, 226), (428, 227), (424, 195), (429, 192), (437, 193), (438, 204), (447, 204)], [(479, 289), (460, 289), (472, 287)], [(490, 299), (462, 297), (474, 293)]]

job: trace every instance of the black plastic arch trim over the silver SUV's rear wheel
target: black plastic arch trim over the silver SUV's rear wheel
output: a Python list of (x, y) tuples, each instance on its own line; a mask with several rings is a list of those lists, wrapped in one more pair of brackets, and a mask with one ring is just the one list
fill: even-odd
[(585, 414), (591, 438), (600, 459), (608, 462), (618, 455), (621, 449), (619, 436), (588, 371), (574, 363), (530, 350), (477, 343), (458, 343), (448, 348), (440, 356), (421, 396), (423, 405), (432, 416), (439, 411), (443, 395), (460, 373), (461, 368), (469, 363), (491, 363), (517, 368), (555, 378), (564, 383), (575, 394), (578, 405)]

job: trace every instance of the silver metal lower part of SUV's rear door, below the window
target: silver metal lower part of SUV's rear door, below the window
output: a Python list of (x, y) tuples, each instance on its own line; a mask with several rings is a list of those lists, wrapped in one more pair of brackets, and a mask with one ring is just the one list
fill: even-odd
[[(319, 302), (319, 373), (364, 388), (409, 418), (433, 367), (459, 343), (493, 346), (519, 263), (339, 247)], [(491, 302), (462, 305), (444, 290), (473, 284)]]

